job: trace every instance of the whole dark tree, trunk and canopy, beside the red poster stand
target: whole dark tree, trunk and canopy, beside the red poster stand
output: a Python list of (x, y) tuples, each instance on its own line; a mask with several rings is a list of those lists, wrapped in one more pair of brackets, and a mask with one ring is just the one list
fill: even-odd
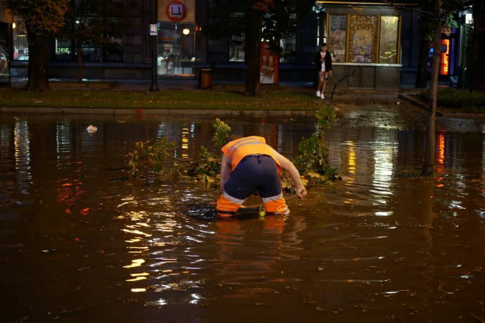
[(314, 1), (309, 0), (213, 0), (209, 8), (209, 37), (243, 35), (247, 63), (246, 93), (259, 94), (261, 39), (280, 54), (280, 40), (296, 30), (294, 19), (305, 15)]

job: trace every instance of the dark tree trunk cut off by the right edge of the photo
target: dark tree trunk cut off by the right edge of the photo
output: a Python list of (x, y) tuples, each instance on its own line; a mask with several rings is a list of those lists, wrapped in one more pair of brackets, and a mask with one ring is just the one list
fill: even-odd
[(473, 79), (472, 89), (485, 91), (485, 1), (473, 1)]

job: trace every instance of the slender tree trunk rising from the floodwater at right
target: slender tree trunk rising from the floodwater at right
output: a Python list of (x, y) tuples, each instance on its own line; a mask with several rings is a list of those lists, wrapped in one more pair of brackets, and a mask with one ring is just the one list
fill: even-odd
[[(434, 0), (434, 17), (439, 17), (441, 13), (441, 0)], [(439, 74), (439, 60), (441, 56), (441, 20), (437, 21), (434, 29), (434, 43), (433, 43), (433, 65), (431, 72), (431, 84), (429, 86), (429, 108), (428, 120), (426, 126), (426, 151), (425, 160), (422, 163), (422, 175), (429, 176), (434, 171), (434, 120), (436, 118), (437, 110), (437, 95), (438, 95), (438, 74)]]

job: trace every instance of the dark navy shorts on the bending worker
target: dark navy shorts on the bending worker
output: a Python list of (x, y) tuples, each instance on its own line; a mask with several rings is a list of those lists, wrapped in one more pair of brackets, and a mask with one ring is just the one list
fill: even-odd
[(257, 191), (263, 198), (281, 194), (278, 165), (266, 154), (250, 154), (244, 157), (224, 185), (224, 192), (235, 199), (245, 200)]

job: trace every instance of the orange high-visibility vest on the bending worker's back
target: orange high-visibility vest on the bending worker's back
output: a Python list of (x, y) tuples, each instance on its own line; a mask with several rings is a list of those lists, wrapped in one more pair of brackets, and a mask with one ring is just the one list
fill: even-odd
[(250, 136), (233, 140), (222, 147), (222, 152), (228, 157), (231, 166), (234, 169), (244, 157), (250, 154), (266, 154), (273, 158), (278, 165), (278, 173), (281, 173), (281, 165), (274, 157), (271, 147), (266, 145), (266, 140), (263, 137)]

